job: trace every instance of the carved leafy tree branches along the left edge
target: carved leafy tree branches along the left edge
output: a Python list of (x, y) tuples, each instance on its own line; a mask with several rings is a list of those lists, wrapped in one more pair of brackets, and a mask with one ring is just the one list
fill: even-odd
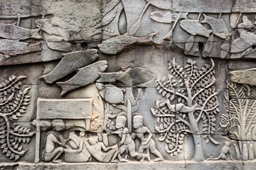
[(5, 83), (0, 84), (0, 145), (3, 154), (9, 159), (18, 160), (23, 156), (26, 150), (23, 150), (21, 142), (28, 143), (31, 140), (33, 132), (30, 129), (21, 127), (12, 120), (18, 120), (31, 100), (28, 96), (30, 87), (19, 90), (21, 80), (26, 77), (9, 77)]

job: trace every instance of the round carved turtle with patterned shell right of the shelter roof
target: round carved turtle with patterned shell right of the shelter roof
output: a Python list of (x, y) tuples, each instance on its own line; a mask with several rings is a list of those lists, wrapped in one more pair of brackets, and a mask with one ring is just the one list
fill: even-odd
[(100, 96), (105, 99), (108, 103), (117, 104), (124, 100), (124, 93), (121, 89), (111, 84), (103, 85), (100, 83), (96, 84), (97, 89), (100, 90)]

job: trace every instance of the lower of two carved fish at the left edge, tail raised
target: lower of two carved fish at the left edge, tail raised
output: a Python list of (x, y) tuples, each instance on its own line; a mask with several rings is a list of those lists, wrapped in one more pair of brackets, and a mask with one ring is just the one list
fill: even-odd
[(30, 53), (30, 52), (40, 52), (42, 50), (42, 42), (38, 42), (35, 44), (31, 44), (28, 45), (28, 47), (26, 48), (26, 50), (18, 50), (18, 51), (1, 51), (1, 53), (4, 54), (4, 57), (9, 58), (11, 56), (16, 56), (16, 55), (23, 55), (26, 53)]

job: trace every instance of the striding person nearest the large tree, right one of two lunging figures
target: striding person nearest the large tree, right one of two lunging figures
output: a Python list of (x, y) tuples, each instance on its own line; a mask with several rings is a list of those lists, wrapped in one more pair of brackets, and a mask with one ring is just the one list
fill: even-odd
[[(146, 152), (149, 157), (149, 152), (156, 155), (156, 159), (154, 162), (163, 161), (163, 157), (160, 152), (156, 149), (156, 145), (154, 140), (152, 139), (152, 133), (146, 126), (143, 125), (143, 116), (142, 115), (134, 115), (133, 118), (133, 126), (134, 133), (132, 133), (132, 139), (138, 138), (141, 141), (141, 145), (139, 146), (138, 152), (143, 153), (146, 149)], [(149, 134), (148, 137), (145, 137), (145, 134)]]

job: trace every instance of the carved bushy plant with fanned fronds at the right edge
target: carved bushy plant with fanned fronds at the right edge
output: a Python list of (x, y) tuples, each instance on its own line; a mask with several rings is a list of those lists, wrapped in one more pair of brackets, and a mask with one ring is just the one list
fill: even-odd
[(256, 124), (256, 100), (250, 99), (255, 96), (256, 91), (250, 86), (228, 81), (228, 93), (225, 94), (224, 103), (229, 114), (230, 128), (239, 140), (240, 153), (244, 160), (253, 159), (253, 149), (247, 149), (247, 141), (252, 140), (252, 130)]

